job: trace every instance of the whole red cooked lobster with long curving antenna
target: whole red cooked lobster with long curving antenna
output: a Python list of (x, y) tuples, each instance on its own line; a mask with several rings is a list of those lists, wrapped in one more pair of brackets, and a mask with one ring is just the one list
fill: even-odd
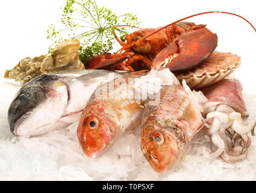
[[(214, 52), (218, 37), (208, 30), (206, 25), (181, 21), (207, 13), (225, 13), (241, 17), (223, 11), (198, 13), (165, 27), (137, 30), (125, 36), (127, 43), (119, 40), (114, 33), (117, 42), (123, 47), (115, 54), (107, 53), (91, 57), (85, 68), (126, 71), (169, 68), (172, 72), (195, 68)], [(254, 28), (244, 17), (241, 18)], [(256, 31), (255, 28), (254, 30)], [(121, 53), (122, 51), (125, 52)]]

